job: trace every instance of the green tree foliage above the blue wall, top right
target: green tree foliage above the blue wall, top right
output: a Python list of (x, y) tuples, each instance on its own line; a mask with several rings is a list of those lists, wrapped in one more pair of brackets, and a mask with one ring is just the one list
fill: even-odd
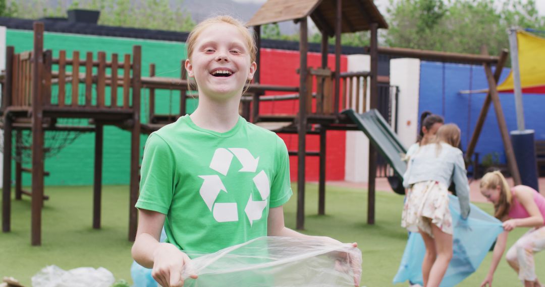
[(390, 0), (390, 29), (385, 43), (391, 47), (490, 54), (508, 48), (507, 29), (545, 28), (535, 0)]

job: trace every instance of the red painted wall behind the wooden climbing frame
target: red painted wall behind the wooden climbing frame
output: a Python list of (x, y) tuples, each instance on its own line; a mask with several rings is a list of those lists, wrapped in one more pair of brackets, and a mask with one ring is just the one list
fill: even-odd
[[(308, 54), (308, 66), (320, 67), (322, 60), (319, 53)], [(335, 70), (335, 55), (330, 54), (328, 66)], [(341, 72), (347, 70), (346, 56), (341, 56)], [(261, 83), (274, 85), (299, 86), (299, 52), (276, 49), (261, 49)], [(267, 95), (281, 95), (286, 93), (269, 92)], [(299, 101), (272, 101), (259, 104), (259, 114), (296, 114), (299, 110)], [(296, 134), (280, 134), (286, 142), (288, 150), (296, 151), (298, 138)], [(344, 156), (346, 152), (346, 132), (331, 130), (326, 136), (326, 180), (344, 180)], [(307, 135), (307, 151), (319, 150), (319, 136)], [(297, 180), (296, 156), (289, 158), (289, 168), (292, 180)], [(306, 180), (318, 180), (318, 157), (306, 158)]]

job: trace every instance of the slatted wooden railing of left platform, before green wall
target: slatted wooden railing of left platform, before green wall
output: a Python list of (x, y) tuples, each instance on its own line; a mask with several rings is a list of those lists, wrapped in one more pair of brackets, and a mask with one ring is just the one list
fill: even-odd
[[(133, 53), (140, 53), (135, 49)], [(31, 107), (33, 82), (33, 52), (13, 55), (11, 80), (11, 106)], [(59, 51), (58, 58), (51, 51), (45, 51), (44, 63), (40, 63), (41, 90), (44, 107), (59, 108), (132, 108), (131, 89), (135, 65), (131, 55), (125, 54), (119, 61), (118, 54), (112, 54), (106, 61), (106, 53), (98, 52), (97, 60), (87, 52), (81, 59), (80, 52)], [(134, 57), (134, 56), (133, 56)], [(137, 65), (136, 68), (140, 68)]]

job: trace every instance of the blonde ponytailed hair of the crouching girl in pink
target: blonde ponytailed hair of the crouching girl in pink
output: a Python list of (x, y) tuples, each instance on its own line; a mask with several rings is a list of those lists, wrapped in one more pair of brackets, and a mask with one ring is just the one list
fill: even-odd
[(481, 178), (481, 190), (496, 189), (498, 186), (500, 187), (500, 199), (498, 203), (494, 204), (494, 217), (501, 220), (509, 213), (511, 207), (512, 194), (507, 180), (499, 171), (488, 172)]

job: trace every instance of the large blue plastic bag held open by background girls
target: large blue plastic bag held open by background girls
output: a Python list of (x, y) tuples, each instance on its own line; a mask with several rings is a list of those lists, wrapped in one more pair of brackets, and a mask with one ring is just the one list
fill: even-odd
[[(467, 220), (460, 215), (458, 198), (449, 195), (449, 208), (454, 226), (452, 260), (446, 270), (441, 287), (455, 286), (475, 272), (485, 259), (490, 246), (503, 232), (501, 221), (485, 213), (474, 204)], [(420, 233), (411, 233), (403, 252), (401, 264), (393, 283), (410, 280), (423, 285), (422, 261), (426, 247)]]

